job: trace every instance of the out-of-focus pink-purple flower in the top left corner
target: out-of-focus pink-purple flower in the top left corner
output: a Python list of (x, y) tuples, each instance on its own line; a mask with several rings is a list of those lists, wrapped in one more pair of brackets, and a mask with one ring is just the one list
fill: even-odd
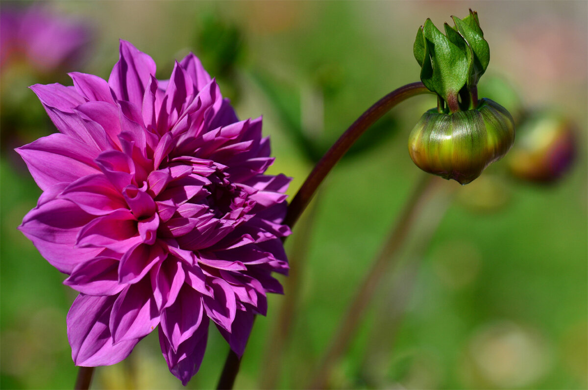
[(90, 37), (82, 22), (41, 6), (0, 9), (0, 66), (24, 60), (39, 73), (75, 65)]

